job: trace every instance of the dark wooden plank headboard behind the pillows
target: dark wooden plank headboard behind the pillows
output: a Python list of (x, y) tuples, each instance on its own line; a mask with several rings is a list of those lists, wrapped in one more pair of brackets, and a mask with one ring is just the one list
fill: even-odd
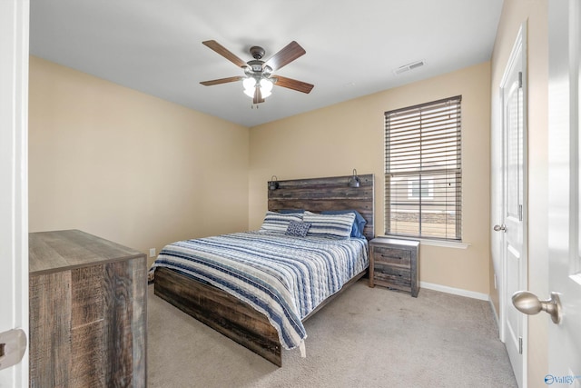
[(373, 174), (358, 175), (360, 184), (357, 188), (347, 184), (350, 176), (278, 181), (276, 190), (268, 190), (267, 186), (269, 210), (305, 209), (313, 213), (357, 210), (367, 221), (363, 234), (370, 240), (375, 236)]

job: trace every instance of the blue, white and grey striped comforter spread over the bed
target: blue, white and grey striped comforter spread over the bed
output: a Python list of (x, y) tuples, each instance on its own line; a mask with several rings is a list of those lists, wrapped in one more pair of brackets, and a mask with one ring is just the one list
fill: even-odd
[(293, 349), (307, 337), (301, 319), (368, 265), (365, 239), (255, 231), (166, 245), (150, 271), (178, 270), (250, 303)]

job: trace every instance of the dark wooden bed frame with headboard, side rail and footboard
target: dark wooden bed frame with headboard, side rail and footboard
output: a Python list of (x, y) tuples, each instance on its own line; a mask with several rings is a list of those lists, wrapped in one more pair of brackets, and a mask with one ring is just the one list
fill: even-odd
[[(374, 237), (373, 174), (359, 175), (358, 188), (349, 187), (350, 176), (278, 181), (276, 190), (268, 190), (268, 209), (357, 210), (365, 220), (364, 234)], [(269, 183), (270, 184), (270, 183)], [(359, 280), (367, 270), (353, 277), (338, 293), (320, 303), (302, 322)], [(278, 366), (282, 366), (279, 334), (266, 315), (211, 284), (167, 268), (155, 270), (154, 293), (184, 313), (226, 335)]]

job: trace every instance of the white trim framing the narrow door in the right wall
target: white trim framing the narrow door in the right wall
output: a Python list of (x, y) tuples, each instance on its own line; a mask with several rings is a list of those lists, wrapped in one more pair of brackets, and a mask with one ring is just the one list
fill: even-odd
[[(504, 89), (507, 85), (508, 75), (517, 62), (517, 60), (521, 60), (522, 67), (520, 71), (522, 72), (522, 89), (523, 89), (523, 138), (522, 138), (522, 149), (523, 149), (523, 204), (522, 204), (522, 225), (523, 225), (523, 241), (522, 241), (522, 252), (521, 252), (521, 265), (519, 268), (519, 290), (527, 290), (528, 289), (528, 151), (527, 151), (527, 118), (528, 118), (528, 93), (527, 93), (527, 21), (523, 22), (518, 29), (517, 37), (515, 39), (515, 43), (512, 47), (510, 52), (510, 56), (507, 61), (507, 65), (505, 66), (504, 74), (500, 81), (498, 94), (499, 94), (499, 107), (498, 107), (498, 117), (500, 120), (499, 128), (500, 128), (500, 140), (502, 141), (502, 145), (500, 147), (500, 154), (493, 154), (493, 160), (501, 160), (502, 162), (498, 166), (497, 170), (493, 171), (500, 171), (502, 173), (500, 179), (500, 191), (493, 191), (493, 195), (500, 194), (500, 198), (497, 198), (496, 201), (493, 201), (497, 206), (497, 214), (495, 214), (496, 219), (491, 220), (492, 224), (503, 224), (507, 204), (506, 204), (506, 184), (507, 184), (507, 177), (505, 174), (504, 169), (504, 154), (505, 154), (505, 112), (504, 112), (504, 105), (505, 105), (505, 98), (504, 98)], [(497, 149), (498, 150), (498, 149)], [(493, 246), (492, 250), (500, 254), (500, 263), (499, 263), (499, 270), (500, 270), (500, 281), (498, 282), (498, 304), (499, 304), (499, 316), (498, 316), (498, 329), (499, 329), (499, 338), (500, 341), (505, 343), (507, 341), (507, 333), (506, 333), (506, 325), (507, 325), (507, 309), (514, 308), (511, 302), (512, 295), (508, 294), (507, 290), (507, 255), (504, 252), (504, 234), (501, 234), (497, 239), (493, 239), (491, 241), (496, 241), (498, 246)], [(520, 333), (522, 336), (522, 353), (521, 353), (521, 375), (517, 376), (517, 381), (521, 382), (521, 386), (527, 386), (527, 353), (528, 353), (528, 322), (527, 318), (522, 320), (522, 327), (519, 328)]]

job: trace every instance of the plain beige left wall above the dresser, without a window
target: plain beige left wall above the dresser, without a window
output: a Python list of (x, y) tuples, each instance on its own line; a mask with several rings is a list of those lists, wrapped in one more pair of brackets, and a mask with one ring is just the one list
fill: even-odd
[(249, 129), (30, 58), (30, 231), (148, 253), (248, 226)]

